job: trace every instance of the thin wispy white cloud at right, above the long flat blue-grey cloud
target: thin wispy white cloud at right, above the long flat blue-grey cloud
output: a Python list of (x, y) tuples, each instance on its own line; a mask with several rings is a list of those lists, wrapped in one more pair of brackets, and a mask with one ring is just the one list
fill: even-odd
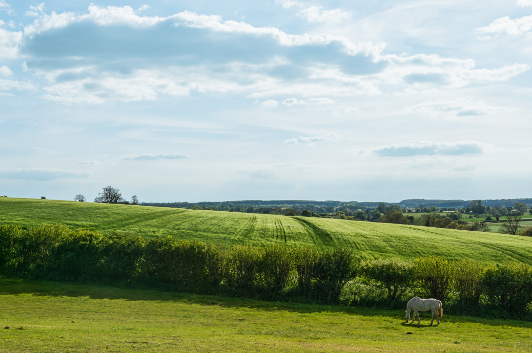
[(473, 103), (463, 98), (451, 101), (426, 101), (413, 107), (405, 107), (403, 110), (420, 112), (425, 114), (453, 114), (456, 116), (486, 115), (505, 110), (504, 107), (494, 107), (484, 102)]

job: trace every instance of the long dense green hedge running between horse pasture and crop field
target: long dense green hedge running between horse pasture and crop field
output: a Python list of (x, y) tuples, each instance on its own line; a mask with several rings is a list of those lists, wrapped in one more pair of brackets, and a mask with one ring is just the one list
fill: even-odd
[(418, 295), (478, 313), (529, 313), (532, 303), (526, 264), (440, 257), (360, 261), (346, 249), (103, 236), (62, 225), (0, 226), (0, 275), (346, 305), (396, 307)]

